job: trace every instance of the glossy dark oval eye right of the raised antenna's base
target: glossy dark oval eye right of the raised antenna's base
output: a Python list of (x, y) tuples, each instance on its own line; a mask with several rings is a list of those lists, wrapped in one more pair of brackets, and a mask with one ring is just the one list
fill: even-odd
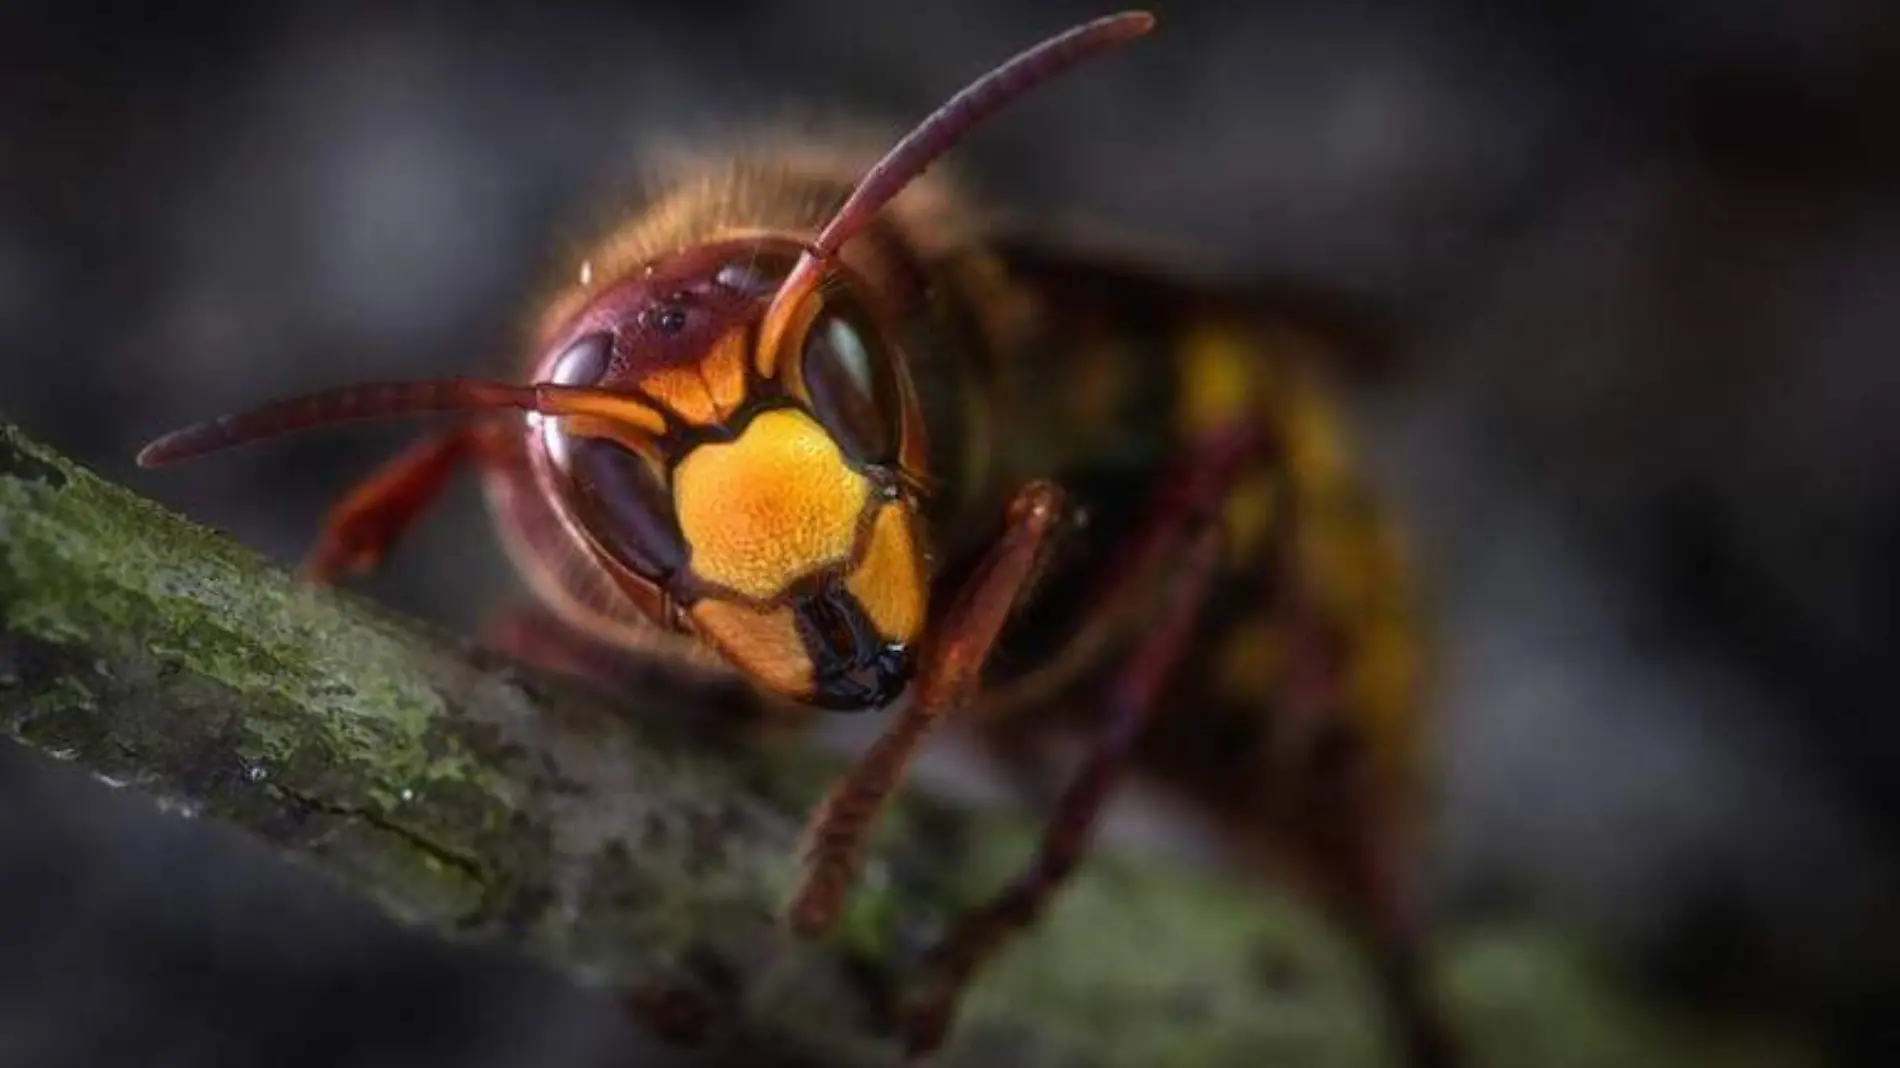
[(897, 458), (899, 395), (878, 323), (851, 300), (830, 300), (800, 355), (811, 414), (861, 464)]

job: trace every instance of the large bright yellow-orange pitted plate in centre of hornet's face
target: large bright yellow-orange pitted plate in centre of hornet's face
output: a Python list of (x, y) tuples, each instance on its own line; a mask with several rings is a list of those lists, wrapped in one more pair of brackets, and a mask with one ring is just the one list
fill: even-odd
[(792, 409), (760, 412), (737, 441), (701, 445), (673, 471), (694, 572), (760, 601), (844, 563), (868, 498), (864, 475)]

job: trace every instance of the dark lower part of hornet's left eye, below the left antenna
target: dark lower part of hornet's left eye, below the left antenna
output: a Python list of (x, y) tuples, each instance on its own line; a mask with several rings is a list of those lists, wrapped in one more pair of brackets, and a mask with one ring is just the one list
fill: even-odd
[(644, 580), (676, 574), (686, 538), (652, 464), (604, 437), (568, 437), (564, 452), (570, 507), (595, 544)]

